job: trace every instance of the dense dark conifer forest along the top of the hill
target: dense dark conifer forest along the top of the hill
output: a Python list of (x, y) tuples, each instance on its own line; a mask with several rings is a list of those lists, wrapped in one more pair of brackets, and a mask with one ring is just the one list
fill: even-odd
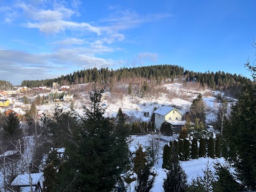
[[(93, 68), (75, 71), (73, 74), (66, 76), (62, 75), (58, 78), (45, 80), (23, 80), (21, 86), (37, 87), (37, 86), (52, 86), (53, 82), (58, 82), (59, 85), (82, 84), (88, 82), (110, 82), (114, 79), (120, 81), (123, 78), (142, 77), (148, 80), (155, 79), (157, 82), (162, 82), (164, 79), (170, 78), (186, 78), (186, 81), (200, 83), (202, 86), (207, 86), (211, 89), (229, 89), (235, 88), (240, 81), (249, 80), (241, 75), (232, 75), (218, 71), (216, 73), (207, 71), (198, 73), (194, 71), (184, 70), (183, 67), (176, 65), (155, 65), (146, 67), (119, 68), (117, 70), (109, 68)], [(250, 81), (250, 80), (249, 80)], [(236, 87), (237, 88), (237, 87)]]

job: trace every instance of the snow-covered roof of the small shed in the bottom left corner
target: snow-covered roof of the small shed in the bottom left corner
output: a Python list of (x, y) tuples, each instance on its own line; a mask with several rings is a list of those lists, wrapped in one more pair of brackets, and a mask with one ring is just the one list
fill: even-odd
[[(31, 173), (32, 185), (37, 185), (43, 173)], [(19, 174), (13, 181), (11, 186), (29, 186), (29, 174)]]

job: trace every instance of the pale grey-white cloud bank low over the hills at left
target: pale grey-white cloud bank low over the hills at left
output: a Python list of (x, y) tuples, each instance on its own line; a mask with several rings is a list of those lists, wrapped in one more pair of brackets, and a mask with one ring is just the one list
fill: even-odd
[(69, 74), (94, 65), (98, 68), (115, 65), (115, 60), (95, 57), (95, 53), (99, 51), (82, 47), (38, 54), (0, 49), (0, 77), (18, 85), (21, 79), (53, 78), (53, 74), (57, 77), (56, 74)]

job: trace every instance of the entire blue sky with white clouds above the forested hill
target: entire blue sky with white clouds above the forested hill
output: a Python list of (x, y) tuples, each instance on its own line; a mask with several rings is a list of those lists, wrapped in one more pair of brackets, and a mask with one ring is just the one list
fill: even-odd
[(250, 77), (256, 2), (0, 0), (0, 79), (178, 65)]

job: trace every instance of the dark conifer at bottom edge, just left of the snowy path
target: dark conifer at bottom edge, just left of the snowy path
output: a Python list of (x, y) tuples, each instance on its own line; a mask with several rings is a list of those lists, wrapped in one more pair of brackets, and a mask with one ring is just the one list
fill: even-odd
[(155, 178), (151, 176), (150, 164), (147, 164), (141, 171), (137, 173), (137, 184), (135, 192), (149, 192), (154, 187)]

